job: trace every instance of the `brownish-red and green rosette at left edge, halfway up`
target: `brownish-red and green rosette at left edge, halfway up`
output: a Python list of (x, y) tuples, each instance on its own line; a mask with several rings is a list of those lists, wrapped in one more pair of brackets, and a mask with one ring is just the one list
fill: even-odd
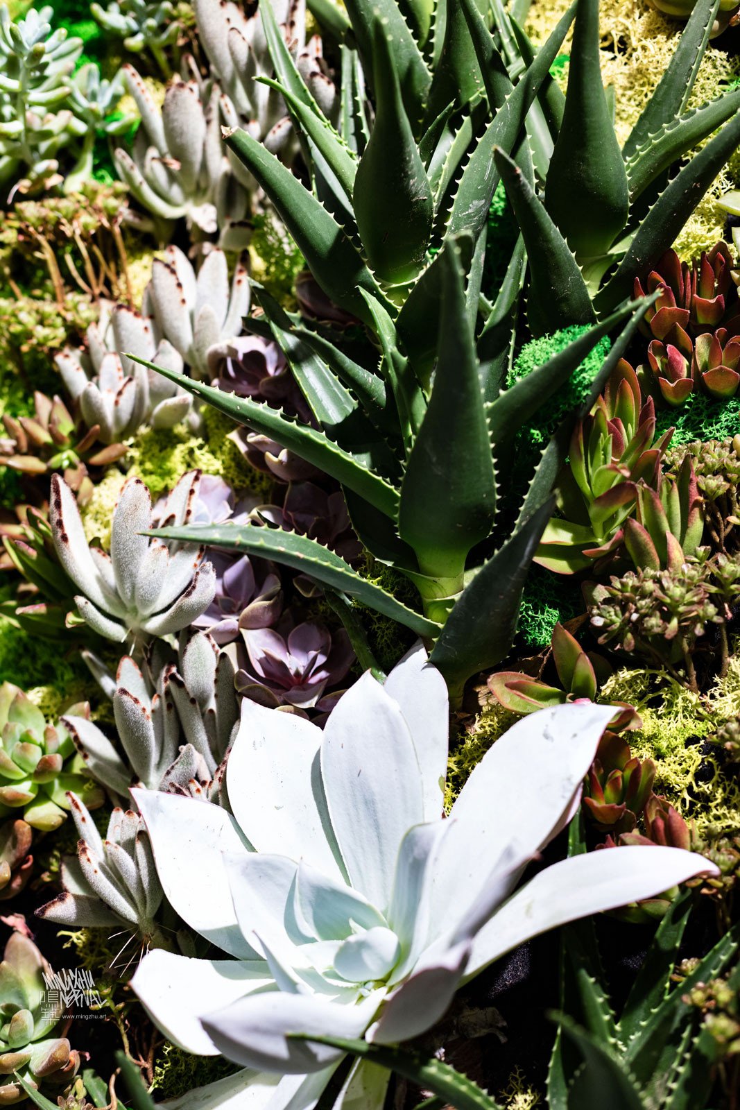
[(97, 446), (100, 425), (81, 426), (61, 397), (37, 391), (33, 406), (33, 416), (3, 413), (8, 437), (0, 438), (0, 466), (30, 476), (62, 471), (69, 486), (80, 494), (83, 486), (92, 492), (88, 465), (107, 466), (125, 455), (128, 448), (122, 443)]

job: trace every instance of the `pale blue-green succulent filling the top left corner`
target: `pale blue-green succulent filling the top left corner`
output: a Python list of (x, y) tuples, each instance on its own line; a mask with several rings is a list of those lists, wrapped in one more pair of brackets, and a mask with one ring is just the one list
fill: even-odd
[[(82, 39), (51, 30), (53, 11), (31, 8), (13, 22), (0, 7), (0, 182), (22, 191), (61, 181), (57, 153), (72, 133), (72, 113), (61, 108), (70, 92), (70, 74)], [(61, 108), (60, 111), (52, 109)]]

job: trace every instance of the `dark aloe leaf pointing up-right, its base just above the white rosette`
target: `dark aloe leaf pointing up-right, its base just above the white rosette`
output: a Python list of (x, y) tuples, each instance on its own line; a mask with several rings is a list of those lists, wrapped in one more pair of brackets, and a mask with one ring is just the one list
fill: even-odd
[(491, 555), (465, 587), (432, 652), (450, 695), (470, 675), (496, 666), (507, 655), (533, 555), (553, 514), (546, 502)]

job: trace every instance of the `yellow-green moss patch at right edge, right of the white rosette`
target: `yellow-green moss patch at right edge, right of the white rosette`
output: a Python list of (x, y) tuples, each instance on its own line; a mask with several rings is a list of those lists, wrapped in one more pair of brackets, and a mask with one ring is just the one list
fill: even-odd
[(619, 670), (602, 688), (604, 699), (633, 705), (642, 726), (629, 734), (632, 754), (656, 764), (657, 794), (696, 821), (701, 836), (738, 828), (740, 781), (702, 750), (719, 725), (740, 714), (740, 658), (726, 678), (699, 697), (655, 670)]

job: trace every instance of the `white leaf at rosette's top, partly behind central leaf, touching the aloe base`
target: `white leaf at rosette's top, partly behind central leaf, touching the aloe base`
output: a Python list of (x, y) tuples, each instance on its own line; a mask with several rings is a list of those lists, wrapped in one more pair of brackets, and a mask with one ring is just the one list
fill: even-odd
[(447, 686), (419, 642), (395, 665), (384, 688), (401, 706), (414, 740), (422, 771), (424, 819), (436, 820), (442, 814), (447, 774)]

